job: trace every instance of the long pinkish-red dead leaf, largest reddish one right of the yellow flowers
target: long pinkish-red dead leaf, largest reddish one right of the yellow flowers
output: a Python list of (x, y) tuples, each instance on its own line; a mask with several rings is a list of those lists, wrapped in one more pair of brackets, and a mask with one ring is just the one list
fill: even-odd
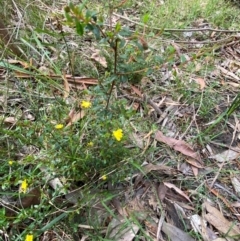
[(187, 144), (185, 141), (176, 140), (172, 137), (164, 136), (161, 131), (156, 132), (155, 139), (159, 142), (163, 142), (163, 143), (167, 144), (174, 150), (179, 151), (186, 156), (189, 156), (189, 157), (192, 157), (192, 158), (198, 160), (202, 164), (199, 154), (197, 152), (195, 152), (193, 150), (193, 148), (189, 144)]

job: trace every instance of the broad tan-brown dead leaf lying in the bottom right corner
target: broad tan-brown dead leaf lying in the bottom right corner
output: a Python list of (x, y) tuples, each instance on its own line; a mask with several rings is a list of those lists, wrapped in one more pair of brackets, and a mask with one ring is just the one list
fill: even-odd
[(207, 210), (205, 219), (213, 225), (222, 234), (227, 234), (228, 236), (238, 236), (240, 237), (239, 228), (234, 225), (233, 222), (229, 222), (220, 211), (215, 207), (211, 206), (208, 202), (203, 204)]

